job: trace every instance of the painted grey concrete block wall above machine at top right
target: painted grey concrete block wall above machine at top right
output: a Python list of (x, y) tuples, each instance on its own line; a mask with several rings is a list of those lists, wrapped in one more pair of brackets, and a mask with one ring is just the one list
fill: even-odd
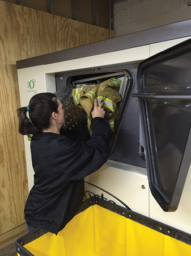
[(188, 0), (115, 0), (116, 36), (191, 19)]

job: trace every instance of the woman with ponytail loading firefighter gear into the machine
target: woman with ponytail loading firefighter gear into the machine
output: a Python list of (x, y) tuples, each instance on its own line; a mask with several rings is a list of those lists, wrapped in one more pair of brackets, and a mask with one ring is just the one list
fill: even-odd
[(31, 135), (34, 185), (24, 214), (28, 231), (43, 228), (57, 234), (79, 210), (84, 177), (98, 170), (109, 154), (110, 126), (104, 119), (104, 102), (95, 100), (93, 134), (87, 142), (60, 135), (65, 123), (60, 100), (53, 93), (39, 93), (18, 109), (19, 133)]

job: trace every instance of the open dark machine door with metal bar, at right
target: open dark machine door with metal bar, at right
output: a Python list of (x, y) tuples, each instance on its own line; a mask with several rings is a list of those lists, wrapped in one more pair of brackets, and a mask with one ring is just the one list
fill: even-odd
[(186, 40), (139, 64), (133, 94), (139, 99), (148, 183), (166, 212), (177, 209), (190, 166), (190, 67)]

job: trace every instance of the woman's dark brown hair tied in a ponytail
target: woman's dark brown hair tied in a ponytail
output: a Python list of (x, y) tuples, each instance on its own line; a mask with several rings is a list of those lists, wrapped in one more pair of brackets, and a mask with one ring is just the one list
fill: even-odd
[(17, 110), (19, 133), (35, 136), (48, 129), (50, 117), (53, 112), (58, 112), (58, 105), (58, 98), (53, 93), (39, 93), (33, 96), (28, 106)]

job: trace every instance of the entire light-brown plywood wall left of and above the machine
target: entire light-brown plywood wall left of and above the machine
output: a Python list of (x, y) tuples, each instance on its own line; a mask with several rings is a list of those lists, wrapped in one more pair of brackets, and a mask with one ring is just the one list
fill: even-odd
[(23, 224), (28, 196), (16, 60), (108, 38), (105, 28), (0, 0), (0, 235)]

